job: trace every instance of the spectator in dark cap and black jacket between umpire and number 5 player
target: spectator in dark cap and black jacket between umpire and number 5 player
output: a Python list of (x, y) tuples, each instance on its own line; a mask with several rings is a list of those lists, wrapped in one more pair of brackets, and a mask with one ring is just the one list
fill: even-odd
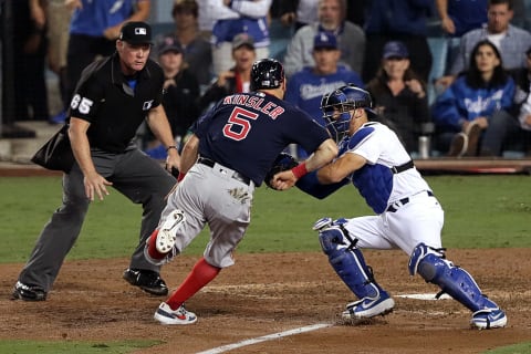
[[(166, 111), (175, 145), (180, 152), (190, 125), (199, 116), (199, 108), (194, 104), (199, 97), (199, 84), (184, 60), (184, 49), (174, 37), (165, 37), (157, 46), (158, 62), (164, 71), (165, 82), (163, 106)], [(166, 146), (155, 139), (147, 129), (147, 155), (166, 159)]]

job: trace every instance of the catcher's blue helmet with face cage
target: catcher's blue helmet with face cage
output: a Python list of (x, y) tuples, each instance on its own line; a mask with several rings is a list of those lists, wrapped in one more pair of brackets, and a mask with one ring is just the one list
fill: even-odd
[(327, 122), (326, 128), (335, 135), (336, 140), (348, 132), (352, 119), (350, 111), (365, 108), (367, 114), (375, 114), (372, 106), (371, 94), (351, 84), (323, 95), (321, 100), (323, 118)]

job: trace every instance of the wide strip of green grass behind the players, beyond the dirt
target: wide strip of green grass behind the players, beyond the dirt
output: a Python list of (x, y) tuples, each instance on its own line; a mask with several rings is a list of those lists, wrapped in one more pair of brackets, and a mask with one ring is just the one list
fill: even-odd
[[(528, 176), (429, 176), (445, 209), (444, 244), (448, 248), (530, 247), (531, 179)], [(128, 257), (136, 246), (139, 206), (111, 189), (88, 211), (70, 259)], [(61, 178), (1, 178), (2, 248), (0, 262), (23, 262), (53, 210), (61, 204)], [(311, 230), (321, 217), (356, 217), (372, 211), (353, 187), (319, 200), (298, 189), (256, 194), (252, 222), (239, 252), (317, 251)], [(208, 229), (186, 250), (202, 252)], [(124, 248), (123, 244), (127, 244)]]

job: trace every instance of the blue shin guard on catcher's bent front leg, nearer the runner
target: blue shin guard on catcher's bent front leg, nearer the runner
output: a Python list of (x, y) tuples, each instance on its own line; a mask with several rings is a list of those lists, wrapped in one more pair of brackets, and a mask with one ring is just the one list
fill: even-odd
[(330, 264), (357, 298), (378, 298), (382, 289), (374, 281), (371, 268), (365, 264), (362, 251), (353, 247), (343, 232), (337, 226), (319, 232), (321, 248), (329, 257)]

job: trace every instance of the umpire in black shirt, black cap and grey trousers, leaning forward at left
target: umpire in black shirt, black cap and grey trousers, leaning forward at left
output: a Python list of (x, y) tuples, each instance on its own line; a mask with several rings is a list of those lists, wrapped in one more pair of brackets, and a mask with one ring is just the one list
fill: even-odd
[[(70, 108), (70, 129), (75, 163), (63, 175), (63, 205), (44, 226), (30, 260), (14, 285), (13, 299), (43, 301), (75, 240), (91, 201), (103, 200), (113, 186), (135, 204), (142, 204), (140, 242), (124, 279), (155, 295), (168, 289), (159, 267), (144, 258), (145, 240), (155, 230), (165, 196), (175, 178), (142, 153), (133, 142), (147, 121), (167, 147), (167, 168), (179, 167), (171, 129), (163, 108), (164, 73), (149, 60), (152, 29), (127, 22), (116, 40), (116, 52), (90, 64), (75, 88)], [(102, 226), (103, 227), (103, 226)]]

